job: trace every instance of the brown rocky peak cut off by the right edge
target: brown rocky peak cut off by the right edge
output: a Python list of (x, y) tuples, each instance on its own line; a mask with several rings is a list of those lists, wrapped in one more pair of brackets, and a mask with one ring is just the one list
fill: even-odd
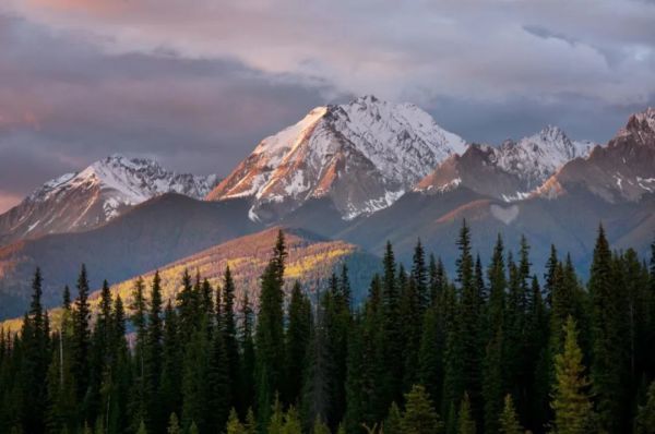
[(581, 188), (609, 203), (639, 202), (655, 193), (655, 109), (632, 114), (606, 147), (567, 164), (539, 194), (557, 197)]

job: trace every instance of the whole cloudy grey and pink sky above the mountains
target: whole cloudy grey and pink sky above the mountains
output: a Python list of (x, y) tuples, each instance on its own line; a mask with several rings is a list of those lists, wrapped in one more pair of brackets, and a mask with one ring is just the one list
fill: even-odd
[(117, 152), (226, 174), (364, 94), (469, 141), (605, 142), (655, 106), (655, 1), (2, 0), (0, 210)]

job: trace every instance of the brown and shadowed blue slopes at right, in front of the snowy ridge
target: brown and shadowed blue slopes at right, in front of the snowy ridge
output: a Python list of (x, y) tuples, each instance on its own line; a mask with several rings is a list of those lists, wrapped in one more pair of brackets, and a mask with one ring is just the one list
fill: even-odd
[[(492, 164), (493, 155), (489, 147), (469, 147), (444, 161), (416, 192), (340, 236), (372, 252), (389, 238), (404, 258), (420, 237), (452, 266), (454, 240), (466, 219), (476, 246), (489, 249), (499, 232), (516, 246), (525, 234), (535, 266), (545, 264), (555, 243), (562, 254), (571, 253), (584, 275), (603, 224), (614, 248), (647, 254), (655, 234), (655, 110), (632, 116), (606, 146), (567, 162), (534, 193), (513, 201), (507, 192), (523, 181)], [(480, 252), (483, 258), (490, 253)]]

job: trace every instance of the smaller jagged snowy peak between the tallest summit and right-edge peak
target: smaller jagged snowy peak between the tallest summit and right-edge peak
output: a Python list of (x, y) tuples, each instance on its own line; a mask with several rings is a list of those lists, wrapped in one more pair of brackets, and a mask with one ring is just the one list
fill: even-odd
[(571, 141), (556, 126), (499, 147), (473, 144), (443, 161), (415, 191), (439, 193), (461, 185), (504, 202), (520, 201), (568, 161), (586, 158), (593, 147), (592, 142)]

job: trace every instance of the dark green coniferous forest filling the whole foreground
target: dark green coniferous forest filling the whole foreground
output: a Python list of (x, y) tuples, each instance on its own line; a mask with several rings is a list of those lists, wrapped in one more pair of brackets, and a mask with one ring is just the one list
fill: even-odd
[(345, 266), (315, 300), (285, 284), (283, 232), (257, 303), (227, 268), (171, 301), (158, 275), (130, 305), (105, 282), (92, 312), (82, 266), (57, 325), (37, 269), (0, 334), (0, 432), (655, 433), (655, 243), (612, 252), (600, 227), (584, 282), (556, 246), (537, 276), (525, 239), (489, 264), (465, 222), (456, 243), (452, 276), (388, 244), (361, 303)]

